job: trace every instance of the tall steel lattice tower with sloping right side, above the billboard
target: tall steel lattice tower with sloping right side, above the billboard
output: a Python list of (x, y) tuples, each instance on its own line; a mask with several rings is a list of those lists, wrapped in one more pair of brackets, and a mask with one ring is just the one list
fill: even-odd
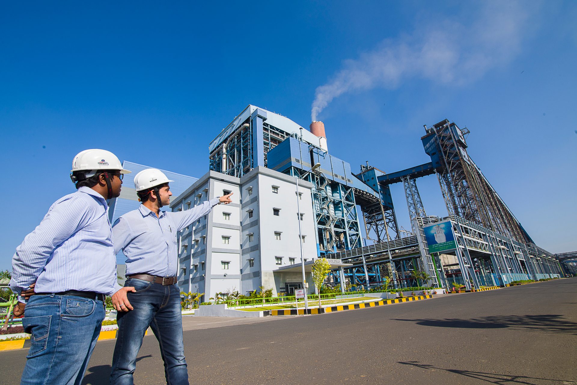
[(469, 130), (460, 129), (447, 119), (425, 130), (421, 140), (437, 171), (449, 215), (507, 234), (517, 241), (532, 242), (467, 154), (465, 137)]

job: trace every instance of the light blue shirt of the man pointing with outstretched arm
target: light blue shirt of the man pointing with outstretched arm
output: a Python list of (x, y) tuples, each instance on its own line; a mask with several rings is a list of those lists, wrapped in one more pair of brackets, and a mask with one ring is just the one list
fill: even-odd
[(122, 215), (114, 222), (114, 253), (126, 256), (126, 275), (151, 274), (175, 276), (178, 270), (177, 233), (219, 203), (218, 198), (204, 201), (190, 210), (155, 212), (141, 204), (138, 210)]

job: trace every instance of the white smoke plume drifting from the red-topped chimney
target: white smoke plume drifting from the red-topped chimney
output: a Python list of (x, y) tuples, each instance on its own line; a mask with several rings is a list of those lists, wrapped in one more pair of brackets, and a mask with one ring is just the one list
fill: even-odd
[[(510, 61), (520, 50), (536, 2), (481, 2), (468, 12), (469, 24), (431, 20), (410, 36), (384, 40), (373, 51), (347, 60), (329, 83), (317, 87), (311, 119), (333, 99), (350, 91), (399, 87), (420, 77), (436, 83), (466, 84)], [(473, 20), (471, 20), (473, 15)], [(460, 17), (463, 19), (463, 17)]]

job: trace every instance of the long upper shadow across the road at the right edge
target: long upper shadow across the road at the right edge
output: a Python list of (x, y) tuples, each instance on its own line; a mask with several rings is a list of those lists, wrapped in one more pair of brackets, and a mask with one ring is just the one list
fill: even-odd
[(558, 314), (492, 316), (471, 319), (395, 319), (409, 321), (422, 326), (456, 327), (474, 329), (514, 328), (516, 330), (538, 330), (549, 333), (577, 335), (577, 323), (569, 322)]

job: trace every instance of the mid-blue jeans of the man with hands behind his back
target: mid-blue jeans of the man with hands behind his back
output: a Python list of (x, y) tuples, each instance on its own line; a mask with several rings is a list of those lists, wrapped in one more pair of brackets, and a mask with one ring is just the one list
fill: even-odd
[(104, 320), (104, 304), (77, 296), (32, 296), (22, 324), (31, 333), (21, 385), (80, 385)]

